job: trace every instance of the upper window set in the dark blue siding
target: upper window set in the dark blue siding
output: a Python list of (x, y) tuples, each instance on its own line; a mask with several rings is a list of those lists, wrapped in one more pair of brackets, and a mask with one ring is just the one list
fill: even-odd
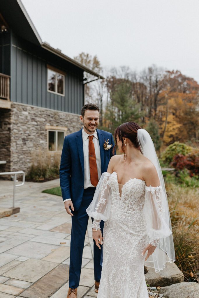
[(59, 95), (64, 95), (64, 78), (63, 74), (53, 70), (47, 69), (47, 90)]

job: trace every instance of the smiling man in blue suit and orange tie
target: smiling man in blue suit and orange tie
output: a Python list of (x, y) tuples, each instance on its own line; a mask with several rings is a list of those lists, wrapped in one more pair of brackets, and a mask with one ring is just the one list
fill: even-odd
[[(113, 136), (97, 129), (99, 124), (98, 106), (89, 103), (81, 109), (80, 131), (65, 137), (61, 154), (60, 185), (64, 206), (72, 216), (70, 242), (69, 291), (67, 298), (77, 298), (84, 239), (88, 225), (87, 207), (90, 205), (101, 174), (107, 171), (112, 157)], [(109, 139), (109, 144), (105, 144)], [(100, 224), (103, 232), (104, 222)], [(95, 289), (101, 278), (101, 253), (94, 243)]]

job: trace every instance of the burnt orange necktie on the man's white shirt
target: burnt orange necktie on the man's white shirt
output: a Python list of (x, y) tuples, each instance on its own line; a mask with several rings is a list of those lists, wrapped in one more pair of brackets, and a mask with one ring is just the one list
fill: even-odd
[(88, 154), (89, 154), (89, 164), (90, 164), (90, 182), (93, 186), (97, 186), (98, 184), (98, 168), (95, 156), (95, 146), (92, 141), (93, 136), (89, 136), (88, 143)]

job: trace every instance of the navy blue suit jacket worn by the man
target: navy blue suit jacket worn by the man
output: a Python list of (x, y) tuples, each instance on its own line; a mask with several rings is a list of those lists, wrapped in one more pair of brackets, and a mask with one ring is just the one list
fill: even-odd
[[(104, 150), (104, 139), (114, 146), (111, 133), (97, 129), (100, 145), (101, 173), (107, 171), (109, 160), (113, 156), (112, 148)], [(63, 200), (71, 198), (75, 211), (81, 205), (84, 193), (84, 151), (82, 128), (73, 134), (65, 136), (61, 153), (60, 186)]]

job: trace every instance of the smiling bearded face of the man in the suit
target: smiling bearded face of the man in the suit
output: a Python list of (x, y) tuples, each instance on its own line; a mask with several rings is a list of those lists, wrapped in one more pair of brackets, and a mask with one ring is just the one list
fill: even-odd
[(87, 134), (93, 134), (99, 124), (99, 112), (86, 110), (84, 117), (80, 116), (81, 122), (84, 125), (84, 131)]

